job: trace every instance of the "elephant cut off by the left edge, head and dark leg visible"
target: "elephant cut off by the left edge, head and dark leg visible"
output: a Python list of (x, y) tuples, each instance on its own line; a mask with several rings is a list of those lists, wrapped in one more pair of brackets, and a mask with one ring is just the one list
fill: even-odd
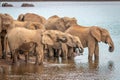
[(13, 18), (9, 14), (0, 14), (0, 57), (4, 50), (4, 36), (13, 27)]

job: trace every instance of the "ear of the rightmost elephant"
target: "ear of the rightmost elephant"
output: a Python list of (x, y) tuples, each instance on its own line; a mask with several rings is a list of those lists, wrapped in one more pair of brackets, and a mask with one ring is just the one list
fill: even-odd
[(100, 28), (95, 27), (95, 26), (91, 27), (90, 28), (90, 33), (98, 42), (101, 41), (101, 31), (100, 31)]

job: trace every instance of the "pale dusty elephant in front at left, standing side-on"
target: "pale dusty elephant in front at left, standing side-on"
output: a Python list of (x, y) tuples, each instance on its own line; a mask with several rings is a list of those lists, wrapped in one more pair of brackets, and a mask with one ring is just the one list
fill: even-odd
[[(6, 35), (6, 45), (9, 46), (10, 51), (13, 55), (13, 63), (17, 62), (17, 55), (20, 46), (29, 44), (30, 42), (35, 43), (35, 50), (36, 50), (36, 61), (35, 64), (42, 64), (44, 59), (44, 45), (54, 45), (58, 42), (67, 42), (66, 35), (60, 31), (56, 30), (29, 30), (26, 28), (13, 28), (11, 29)], [(22, 49), (30, 49), (22, 48)], [(5, 52), (7, 54), (7, 47), (5, 48)]]

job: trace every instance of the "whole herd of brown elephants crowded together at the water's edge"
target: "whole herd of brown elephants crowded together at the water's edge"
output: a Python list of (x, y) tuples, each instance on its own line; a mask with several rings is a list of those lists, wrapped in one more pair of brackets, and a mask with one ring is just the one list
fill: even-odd
[[(35, 13), (20, 14), (17, 20), (6, 13), (0, 13), (0, 57), (11, 55), (17, 63), (19, 54), (35, 55), (35, 64), (42, 64), (44, 58), (62, 57), (68, 60), (73, 54), (83, 53), (88, 47), (88, 59), (99, 59), (99, 44), (109, 45), (114, 51), (114, 43), (108, 30), (98, 26), (81, 26), (76, 18), (53, 15), (46, 19)], [(76, 49), (78, 50), (76, 52)]]

